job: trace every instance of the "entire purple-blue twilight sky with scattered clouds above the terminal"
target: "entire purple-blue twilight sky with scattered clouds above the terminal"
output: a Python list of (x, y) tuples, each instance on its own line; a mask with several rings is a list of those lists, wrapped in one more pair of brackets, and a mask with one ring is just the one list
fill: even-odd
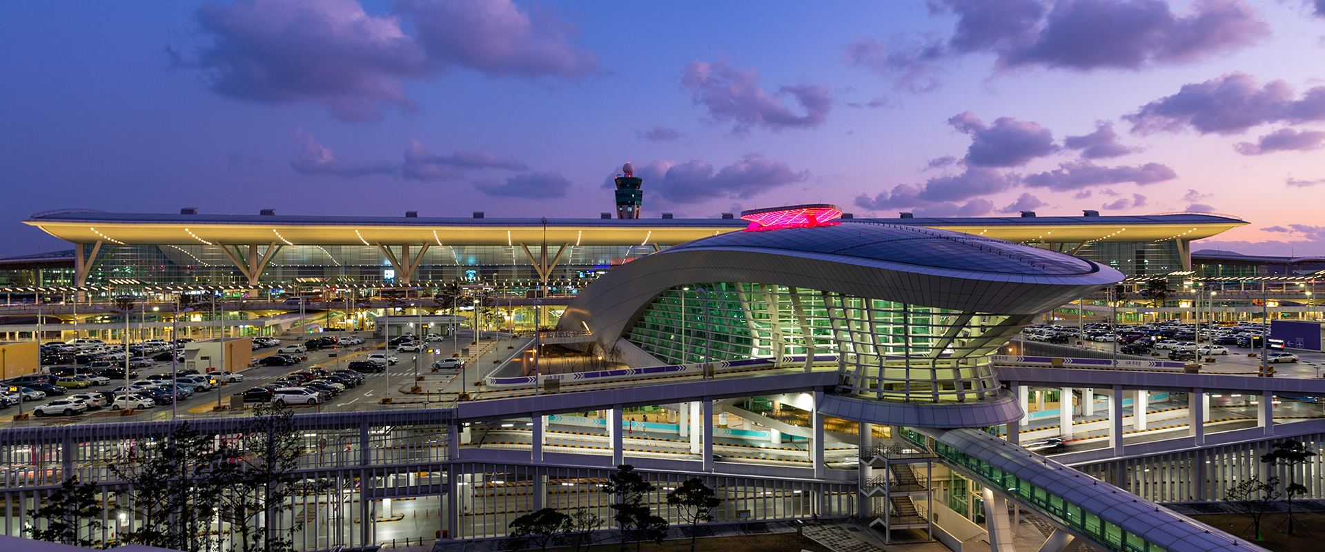
[[(1325, 0), (0, 4), (0, 255), (111, 212), (1230, 213), (1325, 254)], [(1316, 205), (1316, 207), (1313, 207)]]

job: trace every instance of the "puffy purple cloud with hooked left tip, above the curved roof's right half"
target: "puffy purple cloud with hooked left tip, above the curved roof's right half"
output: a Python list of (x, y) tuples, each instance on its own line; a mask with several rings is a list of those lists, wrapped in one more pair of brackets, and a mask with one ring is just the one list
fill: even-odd
[(966, 111), (953, 115), (947, 124), (971, 135), (971, 146), (963, 158), (967, 165), (1018, 167), (1059, 150), (1052, 131), (1014, 116), (1000, 116), (986, 126), (974, 113)]

